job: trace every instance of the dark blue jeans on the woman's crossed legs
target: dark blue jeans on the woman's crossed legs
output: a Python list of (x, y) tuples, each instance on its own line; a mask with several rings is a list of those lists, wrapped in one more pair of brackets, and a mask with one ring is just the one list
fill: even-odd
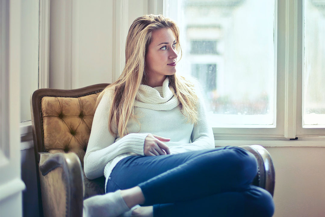
[(238, 147), (162, 156), (129, 156), (110, 174), (107, 192), (139, 186), (154, 217), (272, 216), (272, 196), (252, 186), (253, 154)]

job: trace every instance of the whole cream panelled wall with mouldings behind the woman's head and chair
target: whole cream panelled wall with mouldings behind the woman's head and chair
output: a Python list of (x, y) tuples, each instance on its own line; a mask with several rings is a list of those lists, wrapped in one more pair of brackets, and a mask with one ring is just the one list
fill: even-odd
[(148, 0), (51, 1), (50, 88), (80, 88), (117, 79), (131, 23), (149, 8), (154, 12), (156, 5)]

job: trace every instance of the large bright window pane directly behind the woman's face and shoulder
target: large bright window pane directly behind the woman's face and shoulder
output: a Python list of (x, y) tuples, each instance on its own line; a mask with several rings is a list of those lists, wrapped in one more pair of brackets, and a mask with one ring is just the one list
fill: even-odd
[(274, 11), (275, 1), (182, 1), (177, 73), (200, 81), (213, 127), (275, 127)]

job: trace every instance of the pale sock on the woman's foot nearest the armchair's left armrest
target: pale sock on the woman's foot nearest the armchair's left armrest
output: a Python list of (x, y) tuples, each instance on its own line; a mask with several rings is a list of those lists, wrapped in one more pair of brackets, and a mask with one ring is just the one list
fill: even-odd
[(121, 190), (117, 190), (85, 199), (83, 217), (117, 217), (127, 211), (130, 211), (130, 208), (123, 200)]

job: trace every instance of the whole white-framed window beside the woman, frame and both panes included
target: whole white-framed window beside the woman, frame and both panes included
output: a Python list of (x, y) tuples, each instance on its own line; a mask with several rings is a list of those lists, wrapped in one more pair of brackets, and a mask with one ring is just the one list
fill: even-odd
[(201, 83), (215, 135), (325, 135), (325, 0), (164, 0), (163, 13), (181, 31), (177, 73)]

